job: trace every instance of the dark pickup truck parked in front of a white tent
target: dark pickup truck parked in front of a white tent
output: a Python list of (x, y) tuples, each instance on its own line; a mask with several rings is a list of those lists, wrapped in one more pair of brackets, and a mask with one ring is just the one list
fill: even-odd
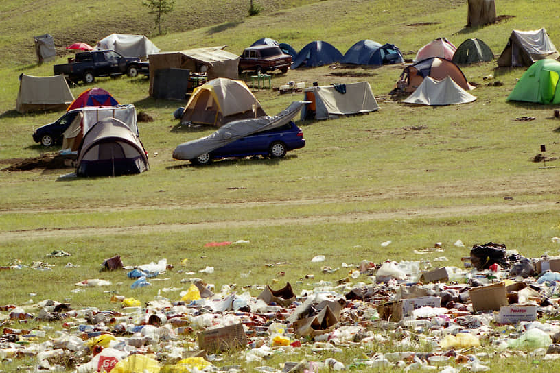
[(69, 80), (83, 80), (93, 83), (95, 77), (118, 77), (126, 73), (130, 77), (138, 74), (148, 75), (148, 62), (141, 62), (137, 57), (124, 57), (113, 50), (89, 51), (76, 53), (75, 58), (67, 64), (56, 64), (54, 75), (64, 74)]

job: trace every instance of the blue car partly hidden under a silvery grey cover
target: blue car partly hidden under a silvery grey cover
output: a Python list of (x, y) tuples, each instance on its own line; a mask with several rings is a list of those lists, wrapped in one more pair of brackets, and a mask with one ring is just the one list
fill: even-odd
[(293, 121), (262, 132), (256, 132), (237, 139), (211, 152), (200, 154), (190, 161), (197, 165), (204, 165), (213, 159), (246, 157), (246, 156), (270, 156), (282, 158), (286, 152), (305, 146), (303, 132)]

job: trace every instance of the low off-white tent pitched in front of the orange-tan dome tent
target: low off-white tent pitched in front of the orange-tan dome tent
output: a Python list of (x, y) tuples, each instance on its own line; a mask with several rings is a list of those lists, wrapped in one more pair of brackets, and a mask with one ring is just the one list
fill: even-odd
[(476, 100), (476, 96), (465, 91), (452, 78), (447, 76), (443, 80), (435, 80), (428, 76), (425, 77), (416, 91), (403, 102), (437, 106), (466, 104), (474, 100)]

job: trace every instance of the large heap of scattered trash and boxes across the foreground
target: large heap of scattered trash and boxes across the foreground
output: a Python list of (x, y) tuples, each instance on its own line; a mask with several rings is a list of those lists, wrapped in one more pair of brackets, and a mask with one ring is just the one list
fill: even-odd
[[(503, 356), (522, 350), (558, 359), (560, 258), (524, 258), (490, 242), (474, 245), (463, 262), (464, 268), (343, 263), (348, 276), (337, 283), (301, 282), (298, 294), (289, 282), (251, 296), (229, 285), (216, 292), (193, 279), (175, 300), (159, 296), (141, 304), (113, 294), (112, 310), (74, 309), (54, 300), (1, 305), (0, 361), (32, 358), (35, 371), (78, 373), (239, 372), (242, 364), (267, 373), (393, 367), (453, 373), (489, 370), (487, 347)], [(165, 259), (124, 267), (119, 256), (103, 266), (126, 269), (131, 287), (149, 286), (148, 279), (172, 269)], [(76, 285), (107, 285), (103, 281)], [(25, 328), (30, 324), (36, 326)], [(340, 354), (346, 348), (358, 348), (362, 357), (336, 359), (353, 356)], [(266, 365), (279, 353), (282, 366)], [(239, 363), (220, 366), (224, 357)]]

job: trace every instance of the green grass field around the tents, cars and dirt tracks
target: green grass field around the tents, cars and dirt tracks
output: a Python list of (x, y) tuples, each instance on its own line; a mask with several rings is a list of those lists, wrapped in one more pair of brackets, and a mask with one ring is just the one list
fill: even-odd
[[(131, 3), (3, 1), (0, 168), (60, 149), (37, 145), (31, 135), (61, 112), (20, 115), (14, 110), (20, 73), (52, 74), (53, 63), (35, 64), (32, 36), (53, 34), (60, 52), (56, 63), (61, 63), (70, 55), (64, 46), (74, 41), (95, 43), (112, 32), (150, 34), (152, 19), (139, 1), (134, 1), (135, 6)], [(246, 11), (238, 3), (177, 1), (176, 12), (165, 21), (167, 34), (151, 39), (163, 51), (228, 45), (226, 50), (232, 53), (264, 36), (298, 50), (312, 40), (325, 40), (344, 53), (356, 41), (369, 38), (395, 43), (406, 58), (414, 58), (434, 38), (445, 36), (458, 46), (476, 37), (498, 56), (512, 29), (545, 27), (552, 41), (560, 44), (557, 16), (547, 12), (557, 8), (552, 0), (498, 1), (497, 14), (510, 17), (478, 29), (465, 28), (466, 0), (260, 3), (264, 12), (245, 18)], [(105, 15), (105, 9), (112, 12)], [(163, 287), (183, 286), (181, 280), (193, 277), (185, 272), (206, 266), (215, 267), (215, 272), (195, 276), (216, 289), (233, 283), (242, 289), (289, 281), (299, 293), (312, 288), (313, 282), (336, 283), (347, 277), (345, 268), (323, 274), (323, 265), (335, 268), (364, 259), (428, 263), (445, 256), (443, 265), (460, 267), (460, 258), (469, 256), (472, 245), (489, 241), (504, 243), (528, 257), (559, 254), (560, 245), (551, 237), (560, 236), (560, 169), (557, 161), (547, 163), (556, 166), (547, 169), (532, 161), (541, 144), (546, 145), (547, 156), (560, 156), (560, 121), (553, 116), (559, 107), (505, 101), (524, 69), (497, 69), (495, 61), (462, 69), (469, 82), (478, 84), (471, 92), (478, 99), (444, 107), (393, 101), (389, 92), (401, 73), (400, 65), (318, 67), (275, 75), (273, 86), (290, 80), (307, 85), (366, 80), (380, 110), (329, 121), (300, 121), (306, 146), (281, 160), (224, 160), (208, 167), (173, 160), (172, 151), (214, 128), (181, 128), (172, 112), (184, 103), (155, 101), (148, 95), (144, 77), (99, 78), (90, 86), (72, 86), (75, 96), (100, 86), (121, 103), (135, 104), (138, 111), (154, 117), (153, 122), (139, 123), (150, 171), (91, 179), (60, 178), (73, 169), (1, 171), (0, 267), (29, 266), (34, 261), (54, 267), (0, 271), (0, 304), (50, 298), (67, 300), (75, 307), (110, 309), (115, 307), (109, 302), (110, 292), (145, 302)], [(299, 93), (279, 95), (269, 90), (255, 95), (269, 115), (303, 99)], [(535, 120), (516, 120), (523, 116)], [(464, 248), (454, 246), (458, 239)], [(250, 242), (205, 248), (210, 241), (237, 240)], [(390, 245), (382, 247), (389, 240)], [(415, 253), (436, 242), (443, 243), (443, 252)], [(72, 256), (47, 257), (54, 250)], [(167, 258), (175, 267), (165, 274), (167, 280), (132, 290), (122, 272), (99, 272), (103, 260), (116, 254), (125, 265)], [(327, 260), (310, 263), (318, 254)], [(184, 259), (186, 265), (180, 265)], [(79, 267), (65, 268), (68, 262)], [(306, 280), (306, 274), (314, 274), (314, 280)], [(103, 278), (113, 285), (72, 293), (74, 284), (86, 278)], [(257, 295), (258, 290), (248, 291)], [(165, 296), (176, 300), (178, 292)], [(338, 358), (359, 354), (349, 350)], [(270, 365), (280, 361), (282, 357), (274, 357)], [(500, 357), (491, 361), (492, 372), (517, 372), (526, 364), (535, 372), (557, 367), (556, 363), (535, 364), (530, 356), (506, 363)], [(5, 372), (15, 370), (12, 364)]]

